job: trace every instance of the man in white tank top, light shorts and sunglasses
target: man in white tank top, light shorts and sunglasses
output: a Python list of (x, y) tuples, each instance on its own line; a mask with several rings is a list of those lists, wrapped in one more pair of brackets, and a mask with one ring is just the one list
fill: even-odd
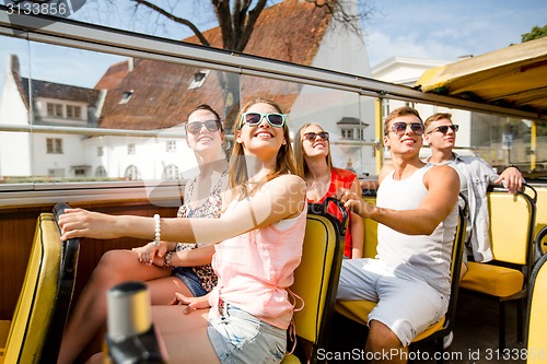
[(369, 315), (365, 350), (374, 354), (368, 357), (406, 363), (408, 344), (449, 305), (459, 178), (449, 166), (420, 160), (424, 127), (416, 109), (393, 110), (384, 130), (392, 164), (380, 173), (376, 207), (347, 189), (337, 195), (379, 222), (376, 257), (344, 260), (337, 300), (377, 302)]

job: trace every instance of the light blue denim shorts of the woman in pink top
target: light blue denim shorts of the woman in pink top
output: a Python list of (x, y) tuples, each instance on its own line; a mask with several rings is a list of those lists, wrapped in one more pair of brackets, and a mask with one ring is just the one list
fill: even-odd
[(220, 316), (209, 315), (207, 332), (222, 364), (269, 364), (283, 360), (287, 330), (229, 303), (224, 304)]

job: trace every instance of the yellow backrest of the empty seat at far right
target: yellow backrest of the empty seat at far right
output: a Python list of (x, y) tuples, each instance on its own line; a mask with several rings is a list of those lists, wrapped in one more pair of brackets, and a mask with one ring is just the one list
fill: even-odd
[[(527, 189), (531, 187), (526, 187)], [(536, 204), (528, 195), (487, 193), (493, 259), (527, 266), (532, 259)]]

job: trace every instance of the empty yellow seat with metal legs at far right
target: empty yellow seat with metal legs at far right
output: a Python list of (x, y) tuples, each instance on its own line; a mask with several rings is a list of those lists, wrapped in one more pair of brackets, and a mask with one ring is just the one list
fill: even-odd
[[(535, 192), (531, 186), (525, 191)], [(524, 339), (524, 304), (534, 260), (533, 232), (537, 195), (511, 195), (491, 190), (487, 195), (493, 261), (473, 262), (462, 278), (465, 290), (499, 298), (499, 349), (505, 348), (505, 302), (517, 302), (517, 340)], [(527, 273), (528, 272), (528, 273)]]

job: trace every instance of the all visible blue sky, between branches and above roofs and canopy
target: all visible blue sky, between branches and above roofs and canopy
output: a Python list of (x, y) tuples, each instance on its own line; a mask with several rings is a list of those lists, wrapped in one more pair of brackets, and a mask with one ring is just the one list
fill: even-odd
[[(102, 1), (116, 4), (108, 12), (101, 8)], [(214, 26), (214, 15), (205, 7), (208, 1), (166, 0), (176, 11), (186, 11), (186, 16), (196, 19), (199, 28)], [(368, 0), (374, 9), (363, 22), (364, 42), (369, 61), (375, 66), (391, 57), (432, 58), (456, 61), (462, 56), (478, 56), (510, 44), (521, 43), (521, 36), (533, 26), (547, 24), (545, 0)], [(148, 32), (159, 36), (184, 38), (189, 31), (181, 26), (158, 25), (156, 22), (135, 21), (128, 1), (88, 0), (74, 14), (83, 20), (101, 14), (98, 22), (112, 23), (130, 31)], [(121, 5), (121, 4), (125, 4)], [(104, 4), (103, 4), (104, 7)], [(153, 20), (153, 19), (152, 19)], [(154, 25), (150, 25), (150, 24)], [(213, 25), (211, 25), (213, 24)], [(20, 39), (0, 38), (0, 72), (5, 72), (9, 54), (18, 54), (22, 73), (38, 80), (48, 80), (84, 87), (93, 87), (106, 69), (124, 58), (104, 56), (84, 50), (26, 44)], [(28, 52), (33, 55), (32, 71)], [(67, 64), (70, 59), (70, 64)], [(3, 77), (0, 78), (0, 89)]]

